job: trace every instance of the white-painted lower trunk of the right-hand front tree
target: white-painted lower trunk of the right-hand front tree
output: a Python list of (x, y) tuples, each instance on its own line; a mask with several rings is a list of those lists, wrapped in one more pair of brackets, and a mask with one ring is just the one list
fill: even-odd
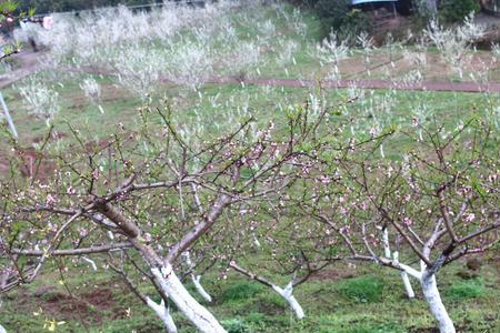
[(422, 272), (420, 283), (422, 285), (423, 296), (426, 297), (427, 303), (429, 303), (429, 307), (439, 323), (439, 331), (441, 333), (456, 333), (457, 331), (454, 330), (453, 322), (448, 315), (448, 311), (441, 301), (436, 275), (429, 275), (426, 272)]

